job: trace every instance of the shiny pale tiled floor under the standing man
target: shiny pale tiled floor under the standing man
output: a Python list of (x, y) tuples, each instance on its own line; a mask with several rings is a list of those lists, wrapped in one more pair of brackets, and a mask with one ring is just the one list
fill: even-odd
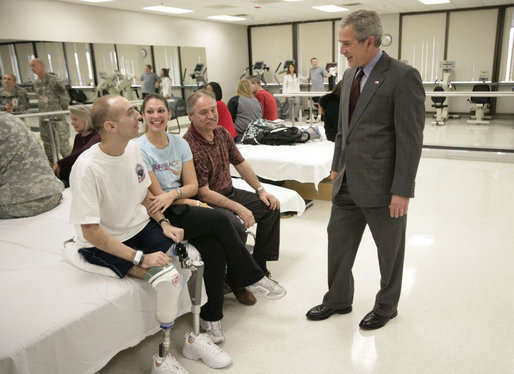
[[(422, 158), (411, 202), (399, 315), (365, 332), (360, 319), (379, 287), (369, 232), (354, 267), (349, 315), (311, 322), (326, 291), (330, 203), (281, 220), (281, 258), (270, 268), (288, 294), (255, 306), (225, 301), (227, 373), (513, 373), (514, 165)], [(181, 353), (191, 317), (172, 330), (172, 351), (190, 373), (214, 373)], [(102, 374), (149, 372), (160, 334), (118, 354)]]

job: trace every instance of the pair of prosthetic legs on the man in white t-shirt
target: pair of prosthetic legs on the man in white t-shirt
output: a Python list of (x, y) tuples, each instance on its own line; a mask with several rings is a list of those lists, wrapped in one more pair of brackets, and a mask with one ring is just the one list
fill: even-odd
[[(177, 243), (171, 250), (173, 254), (179, 257), (180, 266), (183, 269), (190, 269), (192, 273), (188, 288), (193, 304), (193, 331), (195, 335), (198, 335), (200, 333), (200, 304), (202, 301), (204, 264), (202, 261), (193, 261), (189, 258), (185, 243)], [(178, 271), (170, 265), (150, 278), (149, 282), (157, 292), (156, 319), (161, 326), (163, 336), (163, 341), (159, 344), (159, 355), (154, 356), (152, 374), (187, 373), (171, 355), (168, 355), (170, 330), (178, 314), (178, 302), (183, 288), (183, 279)]]

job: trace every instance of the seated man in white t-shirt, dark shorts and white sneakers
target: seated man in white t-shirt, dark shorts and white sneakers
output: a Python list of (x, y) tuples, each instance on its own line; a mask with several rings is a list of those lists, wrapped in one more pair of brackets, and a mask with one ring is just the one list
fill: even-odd
[[(151, 181), (139, 147), (130, 141), (138, 135), (140, 118), (121, 96), (103, 96), (94, 103), (91, 119), (102, 141), (82, 153), (71, 171), (70, 222), (88, 262), (108, 267), (120, 278), (144, 278), (158, 289), (161, 279), (177, 284), (178, 273), (166, 252), (183, 240), (184, 231), (160, 212), (151, 214), (153, 219), (147, 213)], [(230, 357), (205, 338), (187, 334), (184, 344), (204, 361), (228, 365)], [(184, 372), (170, 354), (154, 356), (152, 373)]]

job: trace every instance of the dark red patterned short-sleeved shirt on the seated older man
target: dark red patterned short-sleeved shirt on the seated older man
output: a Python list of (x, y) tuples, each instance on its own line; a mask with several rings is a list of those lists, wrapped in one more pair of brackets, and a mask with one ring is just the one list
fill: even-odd
[(214, 141), (210, 142), (191, 124), (184, 139), (193, 152), (198, 187), (208, 185), (211, 190), (223, 195), (232, 191), (230, 164), (239, 165), (245, 159), (230, 133), (218, 126), (214, 129)]

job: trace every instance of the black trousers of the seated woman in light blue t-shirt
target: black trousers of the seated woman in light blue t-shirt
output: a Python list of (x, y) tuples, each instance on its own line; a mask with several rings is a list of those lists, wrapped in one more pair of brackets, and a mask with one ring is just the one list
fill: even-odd
[(171, 224), (184, 229), (184, 239), (193, 244), (205, 263), (204, 281), (208, 301), (200, 317), (223, 318), (225, 269), (233, 288), (257, 282), (264, 273), (254, 261), (229, 218), (216, 209), (172, 205), (164, 213)]

